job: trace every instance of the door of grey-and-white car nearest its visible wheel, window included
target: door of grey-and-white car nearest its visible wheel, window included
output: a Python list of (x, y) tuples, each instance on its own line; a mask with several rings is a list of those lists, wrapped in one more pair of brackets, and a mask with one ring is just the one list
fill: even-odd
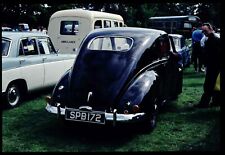
[(44, 65), (38, 53), (35, 38), (23, 38), (21, 40), (18, 61), (21, 76), (26, 80), (28, 90), (43, 87)]

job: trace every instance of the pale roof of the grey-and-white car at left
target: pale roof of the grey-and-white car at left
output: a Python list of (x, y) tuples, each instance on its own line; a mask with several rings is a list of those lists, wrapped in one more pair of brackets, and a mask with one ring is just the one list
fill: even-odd
[(2, 37), (10, 39), (19, 39), (23, 37), (32, 37), (32, 36), (48, 36), (40, 32), (2, 32)]

